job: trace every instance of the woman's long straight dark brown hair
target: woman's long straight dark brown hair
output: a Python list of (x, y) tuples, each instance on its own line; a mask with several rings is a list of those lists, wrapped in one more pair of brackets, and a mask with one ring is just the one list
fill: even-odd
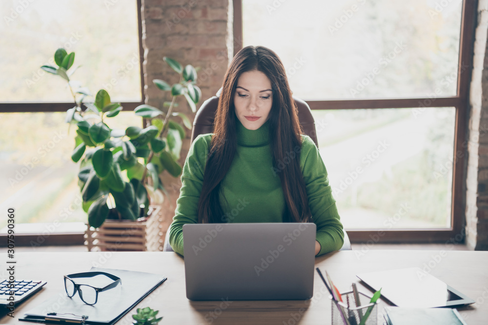
[(219, 193), (237, 148), (234, 94), (239, 76), (253, 70), (263, 72), (271, 81), (273, 103), (269, 112), (269, 137), (273, 172), (279, 175), (285, 194), (283, 221), (306, 222), (310, 219), (305, 182), (300, 169), (302, 128), (285, 67), (272, 50), (264, 46), (246, 46), (232, 59), (224, 76), (198, 203), (200, 223), (224, 222)]

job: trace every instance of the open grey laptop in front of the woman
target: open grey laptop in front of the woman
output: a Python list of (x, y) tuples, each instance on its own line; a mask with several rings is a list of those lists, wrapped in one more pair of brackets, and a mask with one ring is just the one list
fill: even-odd
[(186, 224), (190, 300), (306, 300), (313, 296), (313, 223)]

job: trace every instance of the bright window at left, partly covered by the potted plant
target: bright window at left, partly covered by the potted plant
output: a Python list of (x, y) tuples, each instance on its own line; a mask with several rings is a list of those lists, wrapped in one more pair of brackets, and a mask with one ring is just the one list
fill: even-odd
[(140, 8), (140, 0), (0, 3), (0, 206), (14, 207), (17, 223), (86, 221), (79, 167), (69, 159), (73, 130), (64, 123), (73, 97), (64, 80), (40, 67), (54, 65), (57, 48), (75, 52), (74, 66), (81, 66), (73, 77), (133, 110), (143, 103)]

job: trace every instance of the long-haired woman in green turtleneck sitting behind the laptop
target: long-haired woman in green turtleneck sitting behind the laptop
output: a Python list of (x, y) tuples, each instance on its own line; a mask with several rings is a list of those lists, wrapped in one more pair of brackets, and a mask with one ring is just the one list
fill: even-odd
[(340, 249), (343, 226), (317, 147), (301, 134), (280, 58), (247, 46), (225, 74), (214, 133), (193, 141), (170, 226), (183, 255), (187, 223), (314, 222), (315, 255)]

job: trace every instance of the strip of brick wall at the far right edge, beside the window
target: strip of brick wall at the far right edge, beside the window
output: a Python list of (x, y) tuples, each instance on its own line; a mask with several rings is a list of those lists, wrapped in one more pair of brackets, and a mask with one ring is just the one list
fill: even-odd
[(488, 249), (488, 0), (478, 2), (469, 90), (469, 142), (466, 178), (466, 244)]

